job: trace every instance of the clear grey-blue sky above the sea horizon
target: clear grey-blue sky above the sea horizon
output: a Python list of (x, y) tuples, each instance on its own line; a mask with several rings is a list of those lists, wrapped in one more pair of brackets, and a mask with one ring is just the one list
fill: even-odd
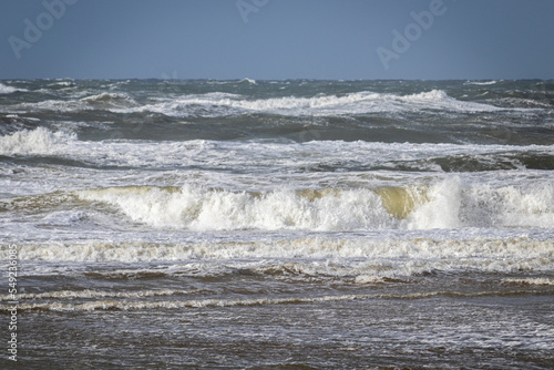
[(554, 0), (1, 0), (0, 79), (554, 79)]

